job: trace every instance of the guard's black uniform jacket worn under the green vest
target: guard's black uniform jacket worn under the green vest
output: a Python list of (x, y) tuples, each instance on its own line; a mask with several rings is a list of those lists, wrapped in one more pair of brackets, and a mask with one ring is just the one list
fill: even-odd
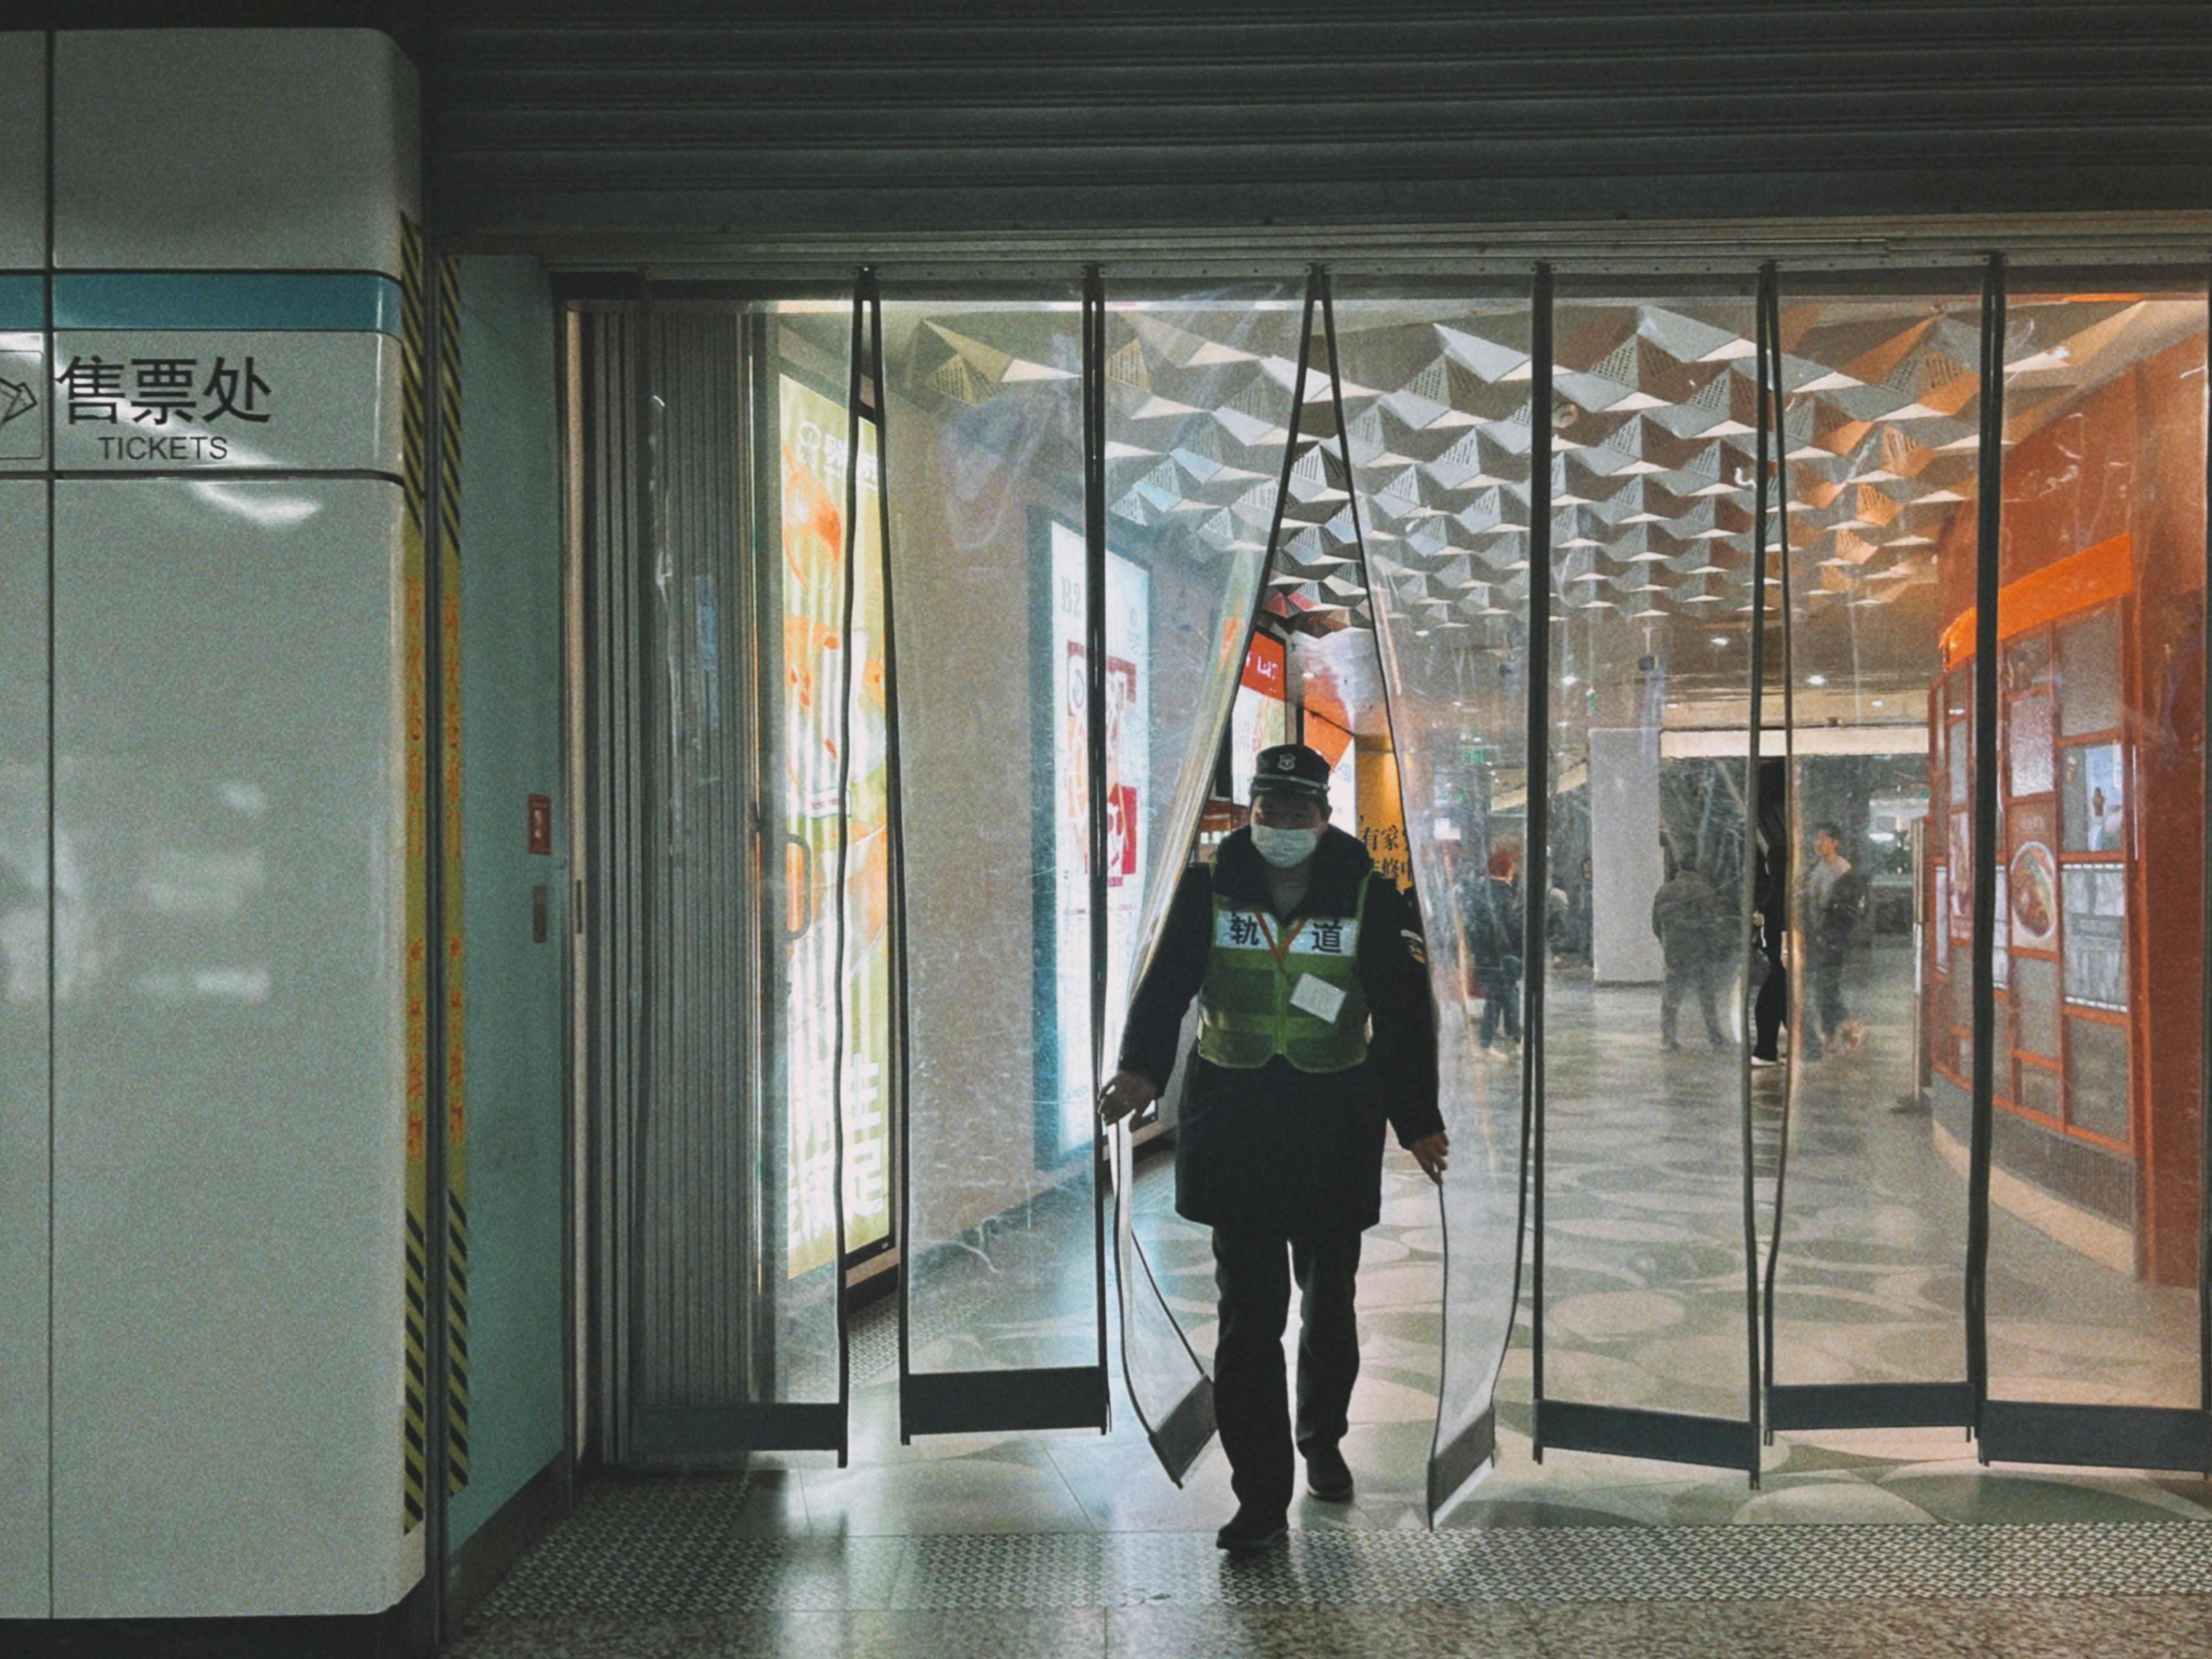
[[(1367, 995), (1367, 1060), (1349, 1071), (1305, 1073), (1281, 1055), (1265, 1066), (1214, 1066), (1190, 1053), (1190, 1086), (1175, 1130), (1175, 1208), (1212, 1228), (1301, 1232), (1371, 1228), (1383, 1208), (1383, 1124), (1411, 1146), (1444, 1126), (1436, 1106), (1436, 1004), (1418, 949), (1418, 916), (1398, 887), (1374, 874), (1367, 849), (1323, 830), (1314, 883), (1290, 914), (1352, 916), (1360, 883), (1358, 971)], [(1121, 1029), (1121, 1071), (1155, 1086), (1175, 1071), (1183, 1013), (1206, 980), (1214, 894), (1272, 911), (1267, 865), (1243, 830), (1214, 865), (1183, 872), (1168, 925)]]

